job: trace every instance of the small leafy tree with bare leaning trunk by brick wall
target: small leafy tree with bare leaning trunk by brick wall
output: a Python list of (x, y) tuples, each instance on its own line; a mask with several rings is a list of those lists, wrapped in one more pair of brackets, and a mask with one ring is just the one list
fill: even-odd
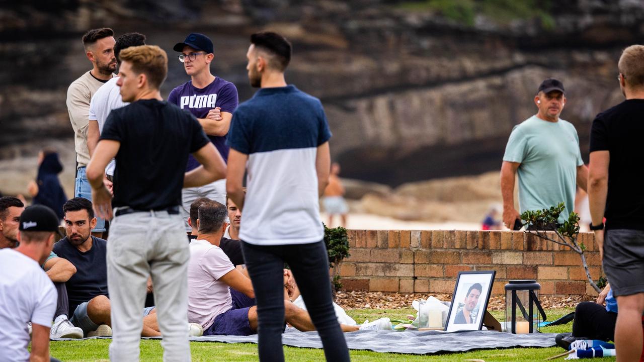
[[(568, 220), (565, 220), (564, 224), (559, 224), (557, 222), (559, 215), (564, 211), (564, 208), (565, 206), (562, 202), (550, 209), (525, 211), (521, 214), (521, 218), (524, 220), (524, 225), (530, 226), (529, 230), (526, 230), (526, 233), (535, 234), (538, 238), (567, 246), (579, 254), (582, 259), (583, 269), (586, 272), (588, 282), (591, 283), (592, 288), (595, 291), (601, 292), (600, 287), (598, 287), (598, 285), (592, 280), (591, 272), (588, 269), (588, 263), (586, 262), (586, 256), (584, 254), (586, 245), (577, 242), (577, 238), (579, 236), (579, 215), (571, 212), (568, 216)], [(545, 230), (554, 231), (556, 238), (551, 237), (552, 234), (547, 234)]]

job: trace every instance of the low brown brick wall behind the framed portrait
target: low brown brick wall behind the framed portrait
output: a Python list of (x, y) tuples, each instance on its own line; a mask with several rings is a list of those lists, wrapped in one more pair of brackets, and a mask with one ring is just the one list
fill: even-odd
[[(523, 231), (349, 230), (348, 238), (341, 282), (349, 291), (451, 293), (459, 271), (495, 270), (494, 294), (512, 279), (536, 279), (542, 294), (596, 294), (579, 254)], [(597, 280), (594, 235), (580, 233), (579, 241)]]

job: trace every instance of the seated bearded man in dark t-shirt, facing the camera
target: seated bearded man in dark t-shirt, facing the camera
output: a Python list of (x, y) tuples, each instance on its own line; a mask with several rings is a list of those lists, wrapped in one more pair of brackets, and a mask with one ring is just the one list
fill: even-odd
[[(111, 336), (107, 242), (91, 236), (96, 218), (89, 200), (72, 198), (62, 209), (67, 236), (54, 245), (53, 251), (76, 267), (76, 274), (66, 283), (71, 323), (88, 337)], [(158, 332), (144, 323), (142, 336), (158, 336)]]

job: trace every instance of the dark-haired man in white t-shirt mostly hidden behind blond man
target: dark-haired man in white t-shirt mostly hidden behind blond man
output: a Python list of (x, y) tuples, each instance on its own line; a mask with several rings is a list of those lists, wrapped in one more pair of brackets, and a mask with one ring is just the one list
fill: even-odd
[[(126, 33), (118, 37), (114, 45), (114, 56), (117, 59), (121, 50), (130, 46), (139, 46), (146, 44), (146, 35), (142, 33)], [(87, 148), (90, 151), (90, 157), (94, 154), (94, 149), (99, 143), (100, 132), (103, 130), (105, 121), (108, 119), (109, 112), (116, 110), (128, 104), (123, 102), (120, 96), (120, 88), (117, 86), (118, 77), (113, 77), (107, 83), (103, 84), (99, 90), (91, 97), (90, 102), (90, 123), (87, 131)], [(114, 178), (114, 165), (112, 160), (105, 169), (108, 181)], [(109, 184), (108, 182), (108, 184)]]

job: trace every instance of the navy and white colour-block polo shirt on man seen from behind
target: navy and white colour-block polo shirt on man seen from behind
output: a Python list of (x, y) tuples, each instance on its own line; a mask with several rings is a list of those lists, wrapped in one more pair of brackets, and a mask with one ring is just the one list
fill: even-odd
[(229, 146), (249, 155), (240, 239), (255, 245), (323, 240), (317, 146), (331, 132), (319, 99), (289, 85), (261, 88), (232, 115)]

